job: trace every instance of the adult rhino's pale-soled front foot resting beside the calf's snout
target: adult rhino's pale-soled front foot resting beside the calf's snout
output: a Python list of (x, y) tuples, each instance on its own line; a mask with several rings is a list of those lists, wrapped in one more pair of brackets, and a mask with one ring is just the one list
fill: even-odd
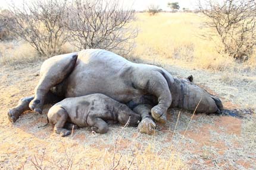
[(141, 133), (154, 134), (156, 126), (151, 118), (146, 117), (139, 123), (138, 129)]

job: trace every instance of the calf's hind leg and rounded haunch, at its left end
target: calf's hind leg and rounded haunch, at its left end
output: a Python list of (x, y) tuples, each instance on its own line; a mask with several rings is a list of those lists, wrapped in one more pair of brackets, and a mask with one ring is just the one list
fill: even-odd
[(64, 128), (67, 118), (67, 111), (60, 106), (53, 106), (48, 112), (49, 123), (54, 124), (54, 132), (60, 134), (61, 137), (71, 134), (70, 130)]

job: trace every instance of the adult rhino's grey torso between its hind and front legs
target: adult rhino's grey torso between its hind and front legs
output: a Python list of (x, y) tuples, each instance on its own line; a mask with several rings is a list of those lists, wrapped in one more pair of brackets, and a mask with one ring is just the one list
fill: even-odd
[(132, 85), (135, 65), (112, 52), (83, 50), (67, 79), (65, 97), (101, 93), (121, 102), (137, 98), (142, 92)]

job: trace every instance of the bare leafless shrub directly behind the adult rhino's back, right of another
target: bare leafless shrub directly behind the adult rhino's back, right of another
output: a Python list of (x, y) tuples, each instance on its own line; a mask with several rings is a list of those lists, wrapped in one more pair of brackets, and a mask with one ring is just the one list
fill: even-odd
[(79, 49), (99, 48), (119, 54), (129, 53), (137, 30), (130, 22), (135, 11), (120, 1), (75, 0), (69, 6), (67, 30)]

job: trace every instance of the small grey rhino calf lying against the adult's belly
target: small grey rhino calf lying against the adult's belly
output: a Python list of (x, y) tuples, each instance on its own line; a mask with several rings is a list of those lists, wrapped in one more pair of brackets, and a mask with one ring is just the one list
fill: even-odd
[(49, 123), (54, 125), (54, 131), (62, 137), (71, 133), (74, 124), (79, 127), (90, 126), (96, 133), (106, 133), (107, 123), (126, 124), (129, 118), (129, 126), (138, 126), (141, 120), (141, 116), (127, 105), (103, 94), (65, 98), (48, 111)]

